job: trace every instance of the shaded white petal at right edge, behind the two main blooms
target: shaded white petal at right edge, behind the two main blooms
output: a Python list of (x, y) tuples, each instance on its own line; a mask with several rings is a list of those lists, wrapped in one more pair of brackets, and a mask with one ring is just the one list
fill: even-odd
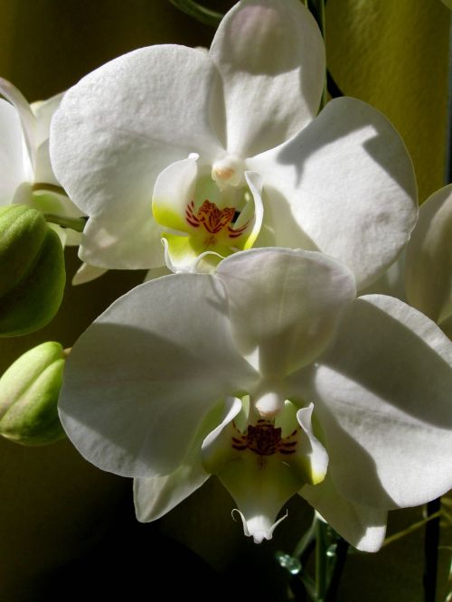
[(452, 314), (452, 184), (424, 202), (407, 247), (410, 305), (435, 322)]

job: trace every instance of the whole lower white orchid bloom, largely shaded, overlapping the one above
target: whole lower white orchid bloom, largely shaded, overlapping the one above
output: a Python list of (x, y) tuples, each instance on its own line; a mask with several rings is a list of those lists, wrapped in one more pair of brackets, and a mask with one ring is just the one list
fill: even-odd
[(361, 550), (386, 513), (452, 486), (452, 343), (315, 251), (250, 249), (215, 275), (133, 289), (80, 337), (60, 416), (91, 463), (135, 477), (140, 521), (209, 475), (255, 541), (297, 492)]

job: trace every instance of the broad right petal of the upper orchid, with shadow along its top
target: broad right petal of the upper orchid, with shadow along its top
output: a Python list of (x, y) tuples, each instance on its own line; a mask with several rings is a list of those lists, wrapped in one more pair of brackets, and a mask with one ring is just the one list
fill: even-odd
[[(410, 238), (417, 216), (410, 156), (390, 122), (360, 100), (332, 100), (298, 136), (248, 165), (263, 176), (264, 211), (280, 203), (273, 244), (314, 245), (344, 261), (358, 289)], [(285, 242), (287, 214), (295, 225)]]

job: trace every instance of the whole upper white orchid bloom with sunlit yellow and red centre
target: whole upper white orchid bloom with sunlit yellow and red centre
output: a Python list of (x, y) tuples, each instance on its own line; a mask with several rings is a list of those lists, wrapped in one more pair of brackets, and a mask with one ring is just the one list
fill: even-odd
[[(197, 268), (251, 246), (320, 250), (364, 287), (406, 244), (416, 184), (378, 111), (335, 99), (315, 118), (325, 49), (298, 0), (242, 0), (209, 52), (142, 48), (70, 89), (55, 174), (89, 215), (80, 257)], [(207, 253), (207, 255), (205, 255)]]

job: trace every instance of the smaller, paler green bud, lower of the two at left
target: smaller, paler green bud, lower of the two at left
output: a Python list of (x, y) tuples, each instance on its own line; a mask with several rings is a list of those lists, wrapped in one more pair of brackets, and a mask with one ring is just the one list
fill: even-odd
[(42, 343), (16, 360), (0, 378), (0, 435), (25, 446), (65, 437), (58, 418), (65, 353)]

